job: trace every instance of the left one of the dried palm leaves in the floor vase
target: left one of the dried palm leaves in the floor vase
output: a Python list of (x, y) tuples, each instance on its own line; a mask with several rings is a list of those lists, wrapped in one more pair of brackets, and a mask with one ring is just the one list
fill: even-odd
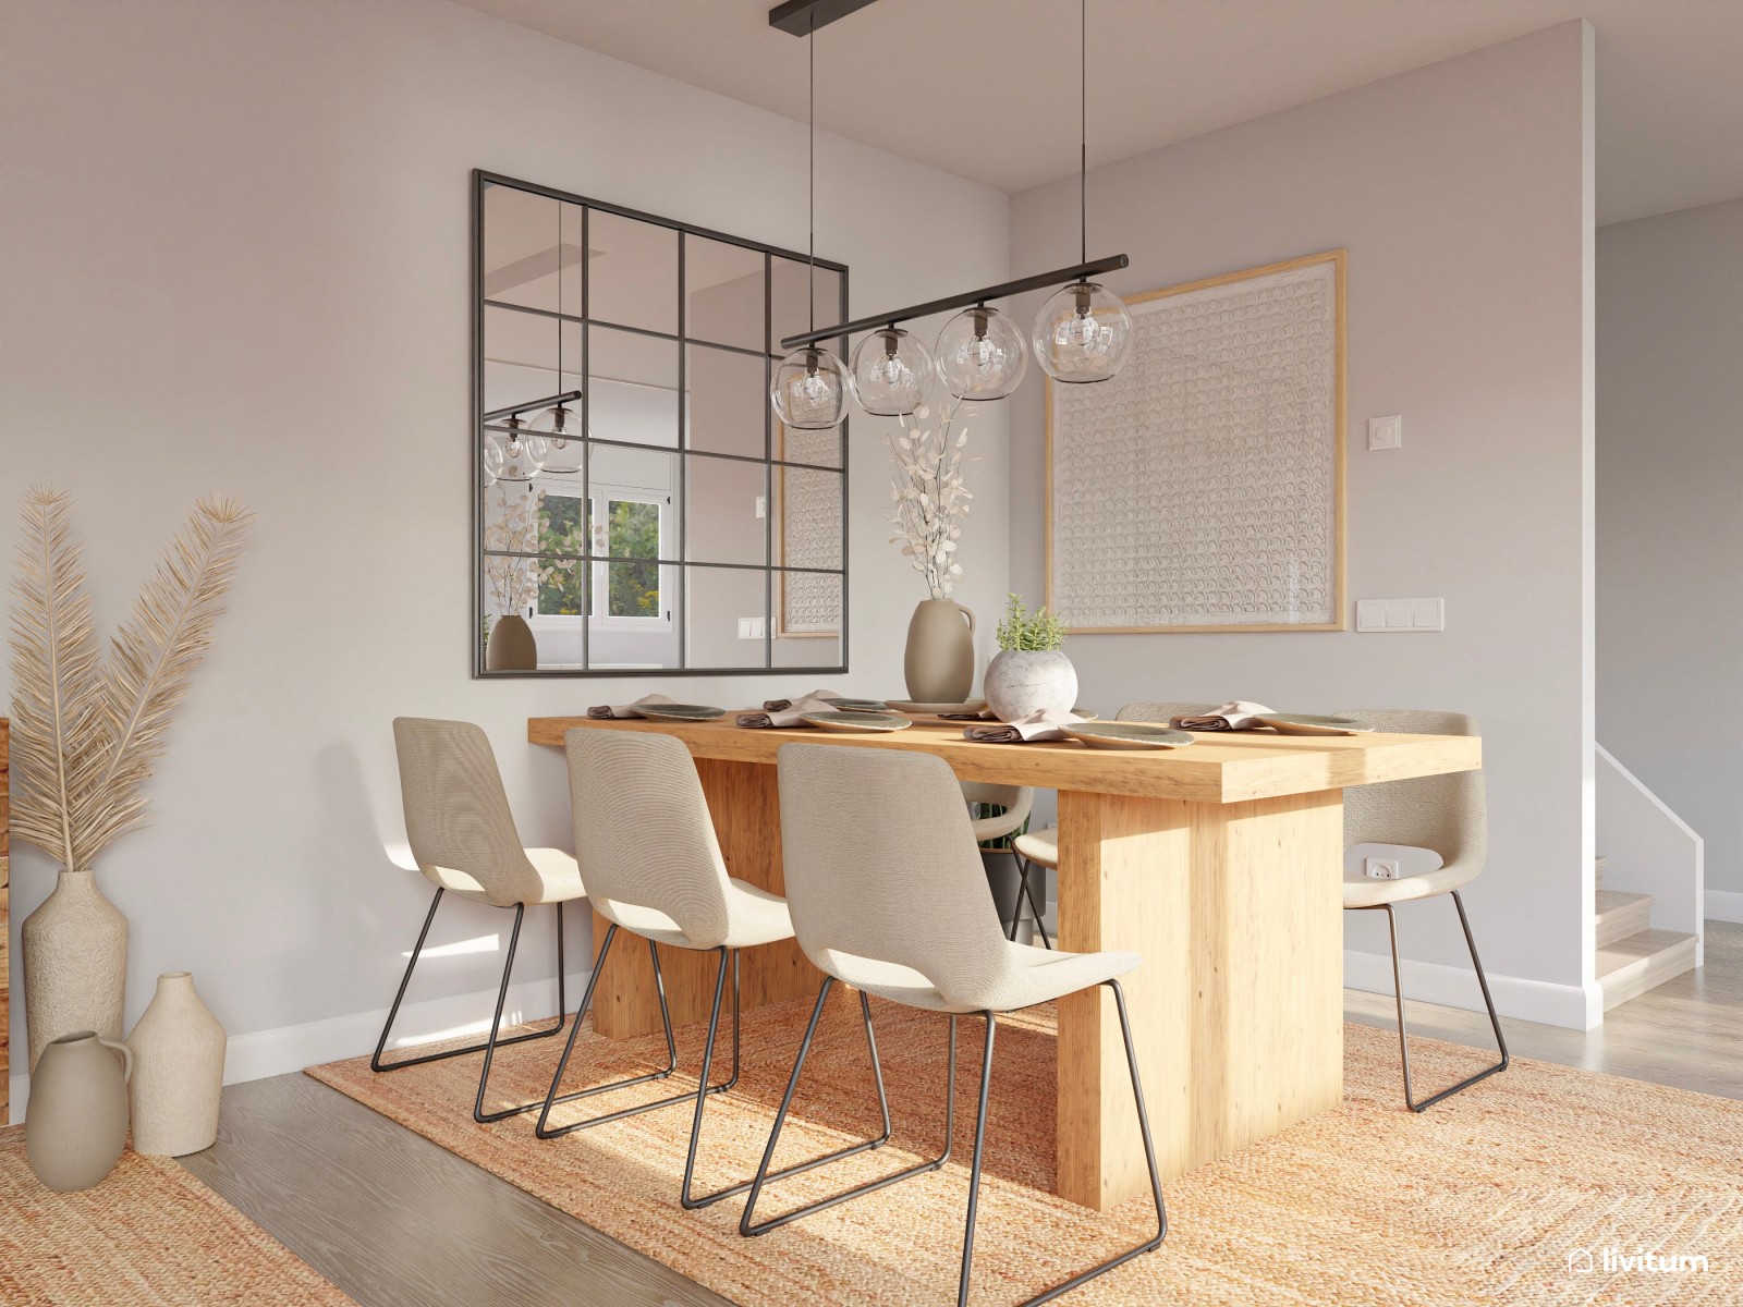
[(85, 870), (84, 824), (108, 730), (91, 596), (71, 498), (52, 486), (24, 495), (12, 580), (12, 833), (66, 868)]

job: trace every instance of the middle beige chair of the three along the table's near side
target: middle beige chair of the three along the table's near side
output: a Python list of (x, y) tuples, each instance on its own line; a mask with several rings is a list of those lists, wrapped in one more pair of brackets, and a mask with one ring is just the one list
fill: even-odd
[[(563, 742), (568, 751), (568, 789), (575, 819), (575, 857), (582, 866), (587, 899), (594, 911), (610, 925), (600, 943), (600, 957), (587, 979), (587, 993), (575, 1012), (568, 1044), (558, 1060), (551, 1089), (539, 1112), (535, 1133), (553, 1140), (587, 1126), (652, 1112), (676, 1103), (694, 1103), (690, 1122), (690, 1155), (683, 1168), (680, 1201), (685, 1208), (718, 1202), (730, 1194), (743, 1194), (749, 1182), (716, 1194), (692, 1195), (690, 1180), (695, 1175), (695, 1148), (702, 1133), (702, 1103), (709, 1094), (729, 1091), (739, 1080), (739, 950), (793, 938), (793, 922), (786, 913), (786, 899), (765, 889), (734, 880), (720, 856), (720, 840), (708, 814), (708, 798), (695, 774), (690, 751), (671, 735), (654, 735), (633, 730), (570, 730)], [(605, 972), (605, 958), (619, 931), (640, 936), (654, 958), (654, 976), (659, 981), (661, 1018), (666, 1025), (666, 1067), (650, 1075), (593, 1086), (568, 1094), (558, 1094), (568, 1060), (575, 1051), (575, 1035), (593, 1004), (593, 992)], [(671, 1033), (671, 1012), (666, 1007), (666, 986), (659, 979), (659, 950), (655, 945), (713, 951), (720, 955), (715, 978), (715, 1006), (708, 1018), (708, 1044), (702, 1049), (702, 1072), (695, 1093), (673, 1094), (654, 1103), (608, 1112), (586, 1121), (553, 1128), (551, 1108), (577, 1098), (631, 1084), (661, 1080), (676, 1067)], [(732, 1075), (723, 1084), (709, 1084), (715, 1061), (715, 1040), (720, 1033), (720, 1004), (725, 993), (727, 964), (732, 964)], [(870, 1021), (870, 1009), (866, 1021)], [(868, 1026), (870, 1030), (870, 1026)]]

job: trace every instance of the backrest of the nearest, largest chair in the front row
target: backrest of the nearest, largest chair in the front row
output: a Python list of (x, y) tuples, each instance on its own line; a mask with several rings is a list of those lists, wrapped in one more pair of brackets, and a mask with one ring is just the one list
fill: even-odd
[(976, 1004), (1013, 965), (955, 775), (899, 749), (783, 744), (781, 861), (798, 946), (913, 967)]

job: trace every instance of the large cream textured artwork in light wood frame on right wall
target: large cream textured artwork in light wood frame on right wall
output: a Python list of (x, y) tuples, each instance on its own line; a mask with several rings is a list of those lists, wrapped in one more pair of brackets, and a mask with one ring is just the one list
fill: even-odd
[(1128, 303), (1126, 368), (1048, 385), (1053, 610), (1342, 629), (1342, 251)]

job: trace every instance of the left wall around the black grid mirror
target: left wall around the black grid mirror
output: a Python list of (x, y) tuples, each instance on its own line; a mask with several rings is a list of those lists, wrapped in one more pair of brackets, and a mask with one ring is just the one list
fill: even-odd
[[(132, 924), (129, 1021), (176, 967), (232, 1035), (382, 1009), (427, 901), (390, 861), (389, 720), (483, 723), (523, 836), (568, 843), (561, 762), (525, 742), (526, 716), (655, 685), (469, 680), (469, 171), (802, 249), (805, 129), (436, 0), (7, 0), (0, 17), (5, 500), (35, 479), (77, 495), (106, 624), (195, 495), (260, 512), (155, 824), (99, 868)], [(779, 49), (769, 75), (804, 78), (802, 45)], [(819, 136), (819, 254), (851, 265), (859, 312), (1000, 281), (1006, 223), (1002, 193)], [(1002, 423), (974, 423), (964, 601), (983, 613), (1007, 589)], [(924, 589), (885, 544), (877, 434), (854, 422), (842, 685), (899, 694)], [(51, 884), (19, 850), (14, 918)], [(432, 938), (507, 924), (455, 904)], [(551, 974), (547, 934), (523, 976)], [(498, 967), (443, 958), (420, 988), (481, 990)], [(366, 1026), (319, 1047), (359, 1051)]]

